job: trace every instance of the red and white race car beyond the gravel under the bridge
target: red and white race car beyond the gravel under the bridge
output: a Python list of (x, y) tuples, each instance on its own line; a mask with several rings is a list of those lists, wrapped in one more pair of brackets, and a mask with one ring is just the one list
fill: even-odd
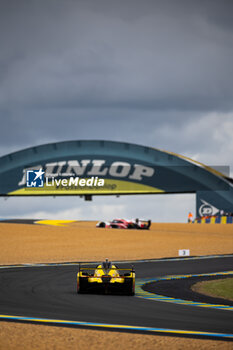
[(137, 229), (137, 230), (149, 230), (151, 220), (142, 219), (114, 219), (112, 221), (99, 221), (96, 227), (105, 228), (121, 228), (121, 229)]

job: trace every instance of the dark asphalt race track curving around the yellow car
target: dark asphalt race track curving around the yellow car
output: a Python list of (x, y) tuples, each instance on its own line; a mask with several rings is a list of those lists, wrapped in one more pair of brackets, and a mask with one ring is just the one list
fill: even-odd
[[(125, 266), (123, 264), (123, 266)], [(135, 262), (136, 278), (232, 270), (233, 257)], [(0, 269), (0, 314), (233, 334), (233, 310), (76, 293), (78, 266)], [(178, 283), (178, 282), (176, 282)]]

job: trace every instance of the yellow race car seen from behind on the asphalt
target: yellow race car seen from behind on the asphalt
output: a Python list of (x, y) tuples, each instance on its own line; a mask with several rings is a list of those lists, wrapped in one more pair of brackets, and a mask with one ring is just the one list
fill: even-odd
[(134, 295), (134, 268), (118, 268), (108, 259), (95, 268), (79, 265), (77, 293)]

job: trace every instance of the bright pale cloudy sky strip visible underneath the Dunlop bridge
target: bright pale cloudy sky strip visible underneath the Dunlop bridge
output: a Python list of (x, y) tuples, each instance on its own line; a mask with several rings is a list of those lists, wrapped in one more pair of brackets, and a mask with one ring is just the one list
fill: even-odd
[(140, 217), (155, 222), (185, 222), (187, 208), (194, 212), (194, 195), (189, 194), (100, 196), (95, 197), (93, 202), (84, 202), (77, 197), (9, 198), (6, 201), (0, 198), (0, 203), (4, 204), (1, 205), (2, 218), (111, 220), (114, 217)]

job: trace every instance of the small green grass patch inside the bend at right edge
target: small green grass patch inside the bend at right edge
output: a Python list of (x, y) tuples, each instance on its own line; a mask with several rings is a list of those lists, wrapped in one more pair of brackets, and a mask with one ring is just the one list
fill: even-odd
[(198, 282), (194, 284), (192, 290), (211, 297), (233, 300), (233, 278)]

